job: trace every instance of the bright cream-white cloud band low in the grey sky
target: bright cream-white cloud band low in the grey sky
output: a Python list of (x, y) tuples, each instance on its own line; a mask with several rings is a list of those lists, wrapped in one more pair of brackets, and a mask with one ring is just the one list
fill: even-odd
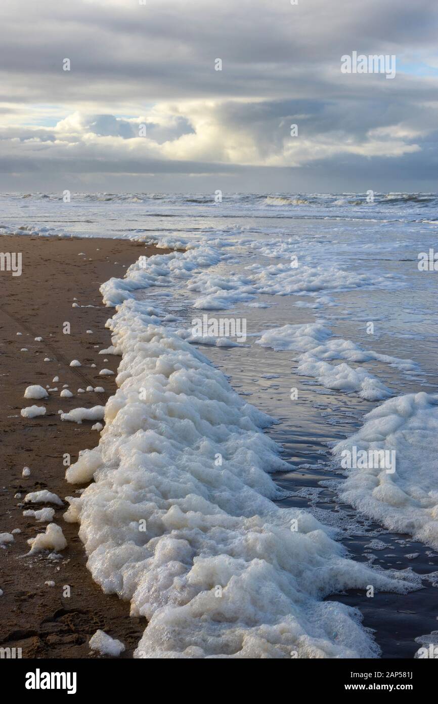
[[(420, 150), (418, 144), (409, 142), (419, 133), (400, 125), (376, 128), (363, 137), (352, 136), (344, 130), (301, 137), (300, 130), (304, 134), (306, 131), (304, 118), (297, 137), (290, 137), (289, 125), (283, 121), (283, 127), (279, 127), (282, 137), (278, 139), (271, 129), (255, 129), (252, 125), (250, 115), (258, 106), (259, 103), (245, 103), (247, 122), (242, 115), (239, 120), (227, 122), (230, 103), (224, 106), (215, 101), (194, 101), (179, 108), (158, 104), (150, 114), (137, 118), (75, 112), (53, 128), (27, 128), (22, 142), (15, 137), (17, 133), (21, 136), (20, 129), (6, 130), (3, 135), (7, 138), (8, 132), (14, 134), (15, 138), (9, 140), (9, 153), (18, 149), (22, 156), (28, 156), (37, 150), (41, 158), (49, 159), (63, 157), (67, 152), (70, 158), (89, 155), (99, 159), (137, 160), (146, 157), (198, 163), (296, 167), (343, 154), (397, 157)], [(239, 108), (242, 106), (239, 105)], [(139, 136), (142, 125), (146, 126), (146, 137)], [(186, 130), (182, 134), (181, 125)], [(160, 139), (157, 139), (157, 134)], [(41, 150), (44, 150), (43, 154)]]

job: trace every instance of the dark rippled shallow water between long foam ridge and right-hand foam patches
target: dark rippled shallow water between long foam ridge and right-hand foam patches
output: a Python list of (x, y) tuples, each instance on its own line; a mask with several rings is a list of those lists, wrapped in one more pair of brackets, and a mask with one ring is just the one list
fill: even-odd
[[(264, 353), (267, 353), (267, 359)], [(394, 346), (391, 353), (399, 353), (399, 348)], [(363, 401), (354, 394), (321, 393), (320, 387), (303, 384), (303, 377), (297, 377), (292, 372), (290, 352), (274, 352), (251, 346), (234, 348), (228, 353), (212, 348), (207, 355), (230, 375), (234, 388), (240, 393), (252, 394), (249, 398), (251, 403), (279, 420), (278, 425), (266, 432), (283, 446), (283, 458), (295, 465), (296, 469), (276, 474), (276, 481), (287, 491), (304, 494), (285, 498), (278, 502), (279, 505), (309, 508), (324, 524), (339, 527), (340, 540), (352, 557), (360, 562), (373, 555), (375, 564), (384, 569), (412, 569), (418, 574), (437, 572), (438, 555), (431, 548), (413, 541), (409, 536), (387, 532), (356, 510), (339, 503), (335, 491), (319, 484), (321, 480), (330, 480), (334, 476), (327, 443), (354, 432), (361, 425), (363, 414), (371, 410), (374, 403)], [(255, 370), (260, 368), (278, 374), (278, 379), (268, 381), (257, 378)], [(395, 376), (392, 375), (390, 386), (395, 384)], [(290, 401), (289, 390), (292, 386), (299, 387), (299, 396), (295, 401)], [(416, 388), (416, 383), (410, 380), (399, 386), (404, 393), (416, 391)], [(425, 390), (433, 391), (433, 387), (429, 389), (425, 386)], [(335, 477), (343, 481), (341, 475)], [(302, 491), (307, 488), (317, 491), (307, 496), (309, 492)], [(386, 543), (387, 548), (378, 551), (366, 548), (375, 538)], [(397, 541), (404, 541), (404, 544)], [(412, 553), (418, 553), (418, 557), (406, 558)], [(432, 584), (424, 582), (422, 590), (408, 595), (376, 593), (373, 598), (367, 598), (363, 591), (351, 590), (328, 599), (361, 610), (363, 624), (373, 629), (382, 658), (413, 658), (418, 650), (414, 639), (437, 628), (438, 574), (432, 577)]]

